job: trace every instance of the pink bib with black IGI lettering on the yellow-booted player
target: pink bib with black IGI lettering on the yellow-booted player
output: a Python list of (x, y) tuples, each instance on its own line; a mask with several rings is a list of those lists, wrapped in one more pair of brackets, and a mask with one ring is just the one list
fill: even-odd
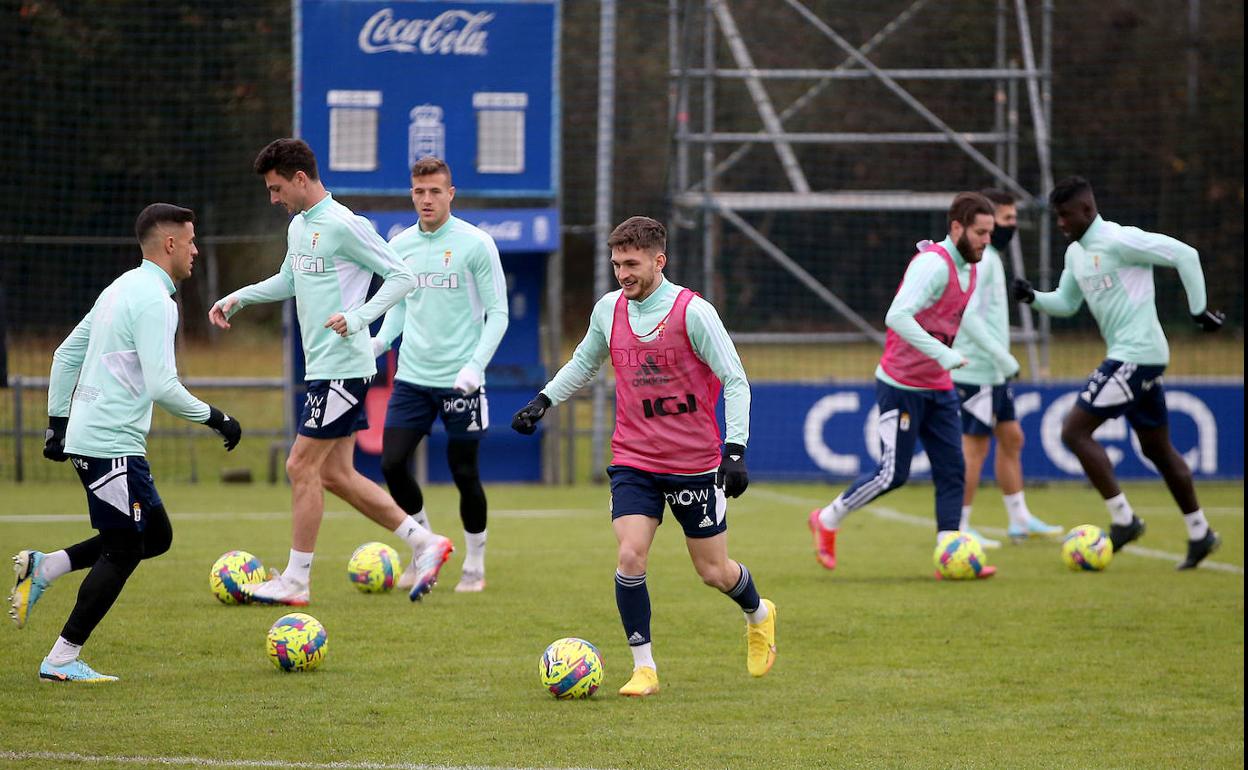
[(629, 326), (624, 295), (615, 302), (610, 351), (617, 465), (651, 473), (705, 473), (719, 467), (720, 382), (689, 342), (685, 311), (694, 296), (680, 290), (668, 316), (640, 336), (653, 336), (648, 342)]

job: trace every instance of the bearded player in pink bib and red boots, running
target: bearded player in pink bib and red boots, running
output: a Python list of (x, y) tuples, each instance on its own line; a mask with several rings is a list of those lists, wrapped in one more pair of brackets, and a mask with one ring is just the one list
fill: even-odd
[[(922, 438), (936, 484), (936, 539), (956, 532), (966, 484), (958, 402), (950, 371), (966, 357), (951, 346), (975, 292), (977, 262), (993, 227), (992, 202), (978, 192), (960, 192), (948, 208), (948, 235), (940, 243), (921, 241), (906, 267), (897, 296), (885, 316), (889, 333), (875, 369), (880, 408), (880, 464), (859, 477), (824, 508), (810, 512), (815, 557), (836, 568), (841, 520), (910, 478), (915, 443)], [(980, 578), (996, 568), (985, 567)], [(937, 578), (940, 573), (937, 573)]]

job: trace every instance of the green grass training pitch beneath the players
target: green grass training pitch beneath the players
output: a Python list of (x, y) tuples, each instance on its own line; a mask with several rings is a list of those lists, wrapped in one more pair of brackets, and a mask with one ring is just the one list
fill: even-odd
[[(997, 578), (957, 584), (931, 579), (930, 487), (851, 517), (827, 573), (805, 514), (835, 488), (758, 483), (730, 507), (730, 544), (778, 605), (775, 668), (746, 674), (740, 613), (700, 584), (669, 520), (649, 565), (664, 689), (640, 701), (615, 694), (631, 660), (603, 487), (490, 487), (488, 589), (451, 590), (456, 554), (421, 604), (347, 583), (356, 545), (394, 538), (331, 498), (308, 608), (329, 649), (308, 674), (265, 656), (280, 609), (225, 607), (207, 589), (231, 548), (285, 565), (288, 492), (161, 492), (173, 549), (140, 567), (84, 654), (120, 683), (36, 679), (81, 573), (55, 584), (25, 629), (0, 628), (0, 766), (1243, 766), (1239, 483), (1201, 487), (1224, 538), (1211, 569), (1174, 572), (1182, 522), (1161, 484), (1139, 484), (1127, 493), (1148, 522), (1147, 550), (1078, 574), (1056, 544), (1007, 545), (990, 552)], [(1106, 519), (1083, 485), (1028, 497), (1067, 527)], [(76, 484), (10, 484), (0, 498), (5, 553), (90, 533)], [(429, 490), (434, 527), (458, 544), (456, 504), (453, 488)], [(985, 490), (976, 523), (993, 534), (1003, 522)], [(588, 701), (539, 685), (538, 656), (564, 635), (604, 654), (607, 679)]]

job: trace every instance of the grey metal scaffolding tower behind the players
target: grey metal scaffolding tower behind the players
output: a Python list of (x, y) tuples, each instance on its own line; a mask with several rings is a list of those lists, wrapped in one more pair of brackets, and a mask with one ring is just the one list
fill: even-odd
[[(870, 59), (886, 40), (897, 36), (925, 10), (938, 10), (941, 4), (965, 0), (912, 0), (912, 2), (884, 25), (862, 45), (854, 45), (829, 22), (820, 19), (800, 0), (780, 0), (776, 12), (786, 6), (801, 22), (810, 25), (845, 59), (832, 69), (760, 69), (750, 55), (750, 30), (741, 29), (729, 0), (669, 0), (669, 60), (670, 60), (670, 117), (675, 126), (671, 141), (673, 173), (670, 175), (671, 221), (689, 223), (700, 230), (701, 243), (684, 245), (684, 252), (701, 253), (701, 286), (708, 298), (714, 300), (716, 271), (715, 232), (723, 223), (736, 228), (782, 270), (806, 286), (821, 302), (844, 317), (857, 331), (825, 333), (770, 332), (734, 333), (743, 342), (884, 342), (884, 332), (859, 314), (852, 307), (819, 282), (801, 261), (785, 251), (764, 233), (753, 227), (744, 212), (785, 211), (931, 211), (943, 212), (956, 191), (875, 190), (841, 191), (811, 190), (795, 145), (950, 145), (970, 157), (987, 172), (996, 183), (1018, 197), (1020, 211), (1037, 213), (1036, 253), (1038, 256), (1038, 285), (1051, 285), (1050, 221), (1046, 215), (1048, 192), (1052, 188), (1050, 162), (1051, 79), (1052, 79), (1052, 0), (1042, 0), (1040, 7), (1040, 54), (1032, 40), (1031, 17), (1027, 0), (995, 1), (995, 51), (993, 66), (982, 69), (881, 69)], [(1007, 50), (1010, 26), (1013, 24), (1015, 50)], [(700, 44), (695, 44), (700, 39)], [(700, 50), (701, 62), (691, 61)], [(720, 61), (726, 51), (730, 62)], [(1011, 61), (1017, 64), (1011, 64)], [(744, 82), (749, 99), (758, 112), (761, 130), (754, 132), (720, 131), (715, 126), (716, 89), (725, 81)], [(812, 85), (795, 101), (779, 109), (768, 92), (768, 84), (779, 80), (812, 81)], [(835, 81), (874, 80), (897, 100), (899, 110), (919, 115), (929, 126), (927, 131), (909, 132), (794, 132), (786, 121), (805, 110), (814, 99)], [(932, 109), (909, 91), (902, 82), (991, 81), (995, 84), (993, 125), (990, 130), (967, 131), (942, 120)], [(1036, 185), (1028, 188), (1018, 178), (1020, 144), (1020, 85), (1026, 89), (1026, 100), (1035, 141), (1036, 161), (1040, 170)], [(696, 91), (695, 91), (696, 90)], [(700, 91), (700, 115), (690, 115), (690, 94)], [(730, 151), (725, 146), (736, 145)], [(981, 151), (985, 147), (987, 152)], [(754, 149), (775, 152), (790, 190), (750, 191), (734, 186), (733, 170)], [(695, 168), (699, 166), (699, 178)], [(669, 237), (679, 237), (679, 227), (673, 227)], [(670, 247), (670, 243), (669, 243)], [(1023, 275), (1022, 246), (1020, 238), (1011, 243), (1010, 260), (1016, 276)], [(1026, 342), (1031, 372), (1047, 368), (1047, 316), (1041, 316), (1040, 328), (1035, 328), (1031, 311), (1021, 306), (1022, 328), (1016, 339)], [(730, 329), (731, 331), (731, 329)], [(1038, 344), (1037, 344), (1038, 343)]]

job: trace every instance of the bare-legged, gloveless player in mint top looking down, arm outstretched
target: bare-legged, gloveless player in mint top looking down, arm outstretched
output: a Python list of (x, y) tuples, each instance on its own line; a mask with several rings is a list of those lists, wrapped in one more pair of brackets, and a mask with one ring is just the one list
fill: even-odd
[[(230, 328), (230, 317), (250, 305), (295, 297), (308, 387), (298, 437), (286, 459), (293, 540), (290, 562), (276, 580), (243, 593), (263, 604), (308, 603), (312, 554), (328, 489), (412, 547), (421, 574), (412, 588), (414, 602), (437, 580), (451, 555), (451, 540), (403, 513), (353, 463), (353, 433), (368, 427), (364, 393), (377, 373), (368, 323), (412, 290), (412, 273), (368, 220), (326, 191), (316, 156), (302, 140), (271, 142), (256, 157), (255, 171), (265, 177), (270, 202), (293, 215), (286, 257), (276, 276), (218, 300), (208, 318)], [(374, 273), (384, 282), (366, 302)]]

